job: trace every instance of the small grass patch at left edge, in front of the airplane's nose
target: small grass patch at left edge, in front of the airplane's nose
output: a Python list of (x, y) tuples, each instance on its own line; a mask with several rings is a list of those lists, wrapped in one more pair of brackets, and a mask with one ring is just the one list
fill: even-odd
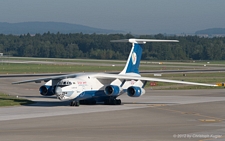
[(9, 96), (6, 94), (0, 94), (0, 106), (18, 106), (27, 105), (34, 102), (22, 98), (17, 98), (16, 96)]

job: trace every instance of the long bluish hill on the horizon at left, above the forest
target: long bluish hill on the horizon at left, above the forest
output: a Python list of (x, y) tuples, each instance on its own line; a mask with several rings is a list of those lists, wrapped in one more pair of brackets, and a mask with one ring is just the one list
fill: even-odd
[(22, 23), (6, 23), (0, 22), (0, 34), (36, 34), (36, 33), (122, 33), (123, 31), (107, 30), (100, 28), (93, 28), (78, 24), (68, 24), (61, 22), (22, 22)]

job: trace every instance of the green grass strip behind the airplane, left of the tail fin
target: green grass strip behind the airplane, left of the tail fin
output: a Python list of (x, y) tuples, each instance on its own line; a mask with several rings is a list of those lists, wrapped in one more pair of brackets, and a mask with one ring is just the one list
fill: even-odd
[(0, 64), (0, 74), (69, 73), (121, 71), (121, 66), (59, 65), (59, 64)]

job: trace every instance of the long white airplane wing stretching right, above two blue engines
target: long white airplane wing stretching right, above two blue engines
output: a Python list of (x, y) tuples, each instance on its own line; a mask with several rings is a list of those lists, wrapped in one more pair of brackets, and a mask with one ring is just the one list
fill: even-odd
[(218, 86), (216, 84), (196, 83), (196, 82), (187, 82), (187, 81), (152, 78), (152, 77), (120, 75), (120, 74), (100, 74), (100, 75), (95, 75), (95, 77), (99, 79), (115, 78), (115, 79), (125, 79), (125, 80), (156, 81), (156, 82), (189, 84), (189, 85), (199, 85), (199, 86), (214, 86), (214, 87)]

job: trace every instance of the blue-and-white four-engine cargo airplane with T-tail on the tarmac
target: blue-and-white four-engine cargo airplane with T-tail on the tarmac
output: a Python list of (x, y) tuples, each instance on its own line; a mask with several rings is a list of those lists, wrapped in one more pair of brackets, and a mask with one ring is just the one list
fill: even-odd
[(168, 82), (201, 86), (218, 86), (214, 84), (195, 83), (178, 80), (142, 77), (139, 65), (142, 55), (142, 46), (147, 42), (179, 42), (178, 40), (157, 39), (121, 39), (111, 42), (129, 42), (132, 48), (124, 69), (119, 74), (107, 73), (76, 73), (51, 76), (33, 80), (13, 82), (21, 84), (28, 82), (47, 82), (39, 88), (43, 96), (55, 95), (59, 100), (70, 100), (70, 106), (80, 104), (104, 103), (106, 105), (120, 105), (120, 95), (127, 93), (130, 97), (140, 97), (145, 94), (145, 85), (148, 81)]

